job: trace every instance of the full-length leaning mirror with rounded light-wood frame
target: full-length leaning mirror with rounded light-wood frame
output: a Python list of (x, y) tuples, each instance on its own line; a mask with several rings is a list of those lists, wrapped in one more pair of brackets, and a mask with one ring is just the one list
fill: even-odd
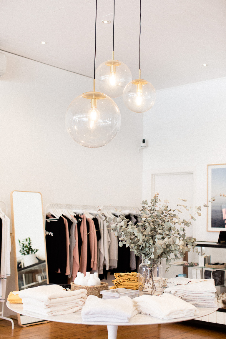
[[(42, 195), (39, 192), (11, 192), (14, 262), (17, 291), (48, 283)], [(29, 318), (29, 319), (28, 319)], [(18, 315), (20, 325), (40, 319)]]

